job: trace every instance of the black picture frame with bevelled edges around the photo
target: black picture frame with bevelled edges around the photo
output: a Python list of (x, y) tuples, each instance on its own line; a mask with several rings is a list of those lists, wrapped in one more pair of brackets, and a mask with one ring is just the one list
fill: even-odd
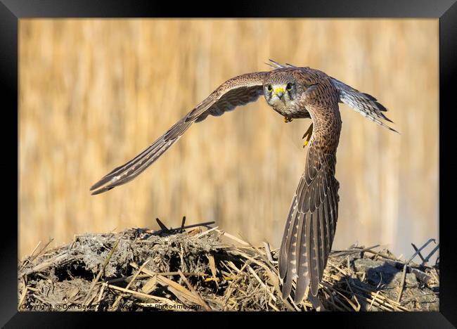
[[(219, 9), (217, 9), (219, 8)], [(453, 100), (453, 84), (456, 79), (457, 60), (457, 4), (455, 0), (346, 0), (346, 1), (245, 1), (234, 4), (233, 1), (224, 6), (219, 4), (210, 6), (205, 2), (195, 3), (166, 1), (120, 1), (120, 0), (0, 0), (0, 81), (2, 115), (5, 118), (0, 129), (4, 146), (4, 159), (0, 162), (3, 178), (11, 179), (11, 186), (18, 188), (18, 143), (13, 141), (13, 134), (18, 137), (18, 22), (21, 18), (146, 18), (146, 17), (233, 17), (233, 18), (439, 18), (439, 219), (440, 219), (440, 266), (441, 266), (441, 291), (439, 312), (414, 312), (406, 313), (312, 313), (308, 316), (319, 321), (337, 322), (339, 327), (348, 328), (454, 328), (457, 325), (456, 307), (456, 257), (453, 248), (453, 224), (455, 215), (451, 213), (451, 181), (448, 173), (452, 173), (455, 166), (451, 157), (453, 141), (449, 131), (452, 120), (449, 115), (455, 111)], [(420, 95), (418, 95), (420, 97)], [(5, 116), (8, 117), (5, 117)], [(413, 115), (413, 114), (411, 114)], [(15, 122), (15, 124), (13, 124)], [(432, 138), (436, 138), (433, 136)], [(9, 146), (7, 150), (5, 147)], [(14, 161), (15, 159), (16, 161)], [(13, 175), (13, 172), (16, 175)], [(5, 174), (10, 173), (10, 174)], [(441, 179), (444, 177), (444, 179)], [(33, 183), (33, 182), (30, 182)], [(418, 188), (427, 188), (420, 186)], [(4, 189), (4, 209), (14, 207), (16, 220), (18, 220), (18, 193)], [(449, 210), (449, 212), (447, 212)], [(450, 214), (449, 217), (446, 214)], [(100, 319), (103, 321), (116, 319), (119, 314), (98, 315), (93, 313), (58, 313), (58, 312), (19, 312), (18, 304), (18, 223), (13, 216), (4, 216), (3, 234), (0, 239), (0, 325), (7, 328), (28, 327), (61, 327), (80, 326), (93, 323)], [(6, 225), (11, 224), (11, 226)], [(220, 314), (219, 314), (220, 315)], [(140, 316), (140, 314), (123, 314), (124, 316)], [(143, 315), (144, 316), (144, 315)], [(150, 325), (157, 324), (157, 313), (153, 316), (146, 314), (146, 321)], [(162, 314), (164, 316), (164, 314)], [(160, 316), (159, 318), (162, 318)], [(166, 312), (169, 325), (177, 325), (176, 319), (212, 323), (214, 316), (208, 314), (179, 314)], [(173, 318), (172, 318), (173, 316)], [(195, 318), (198, 316), (198, 318)], [(255, 316), (253, 321), (271, 317), (302, 316), (300, 314), (233, 314), (230, 316)], [(89, 319), (90, 317), (90, 319)], [(190, 317), (193, 317), (190, 318)], [(308, 321), (309, 318), (291, 318), (287, 321)], [(279, 320), (279, 319), (278, 319)], [(90, 322), (89, 322), (90, 321)], [(303, 323), (304, 325), (304, 323)]]

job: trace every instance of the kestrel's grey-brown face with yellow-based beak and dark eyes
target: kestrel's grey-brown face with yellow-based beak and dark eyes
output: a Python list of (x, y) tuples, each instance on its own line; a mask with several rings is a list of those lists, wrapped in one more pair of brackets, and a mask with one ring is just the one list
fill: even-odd
[(291, 75), (272, 75), (264, 83), (264, 96), (274, 108), (292, 108), (299, 86)]

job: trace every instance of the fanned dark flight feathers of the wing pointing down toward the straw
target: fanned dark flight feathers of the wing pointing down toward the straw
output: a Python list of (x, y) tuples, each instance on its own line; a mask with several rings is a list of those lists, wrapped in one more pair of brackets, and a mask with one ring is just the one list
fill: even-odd
[(283, 298), (297, 278), (295, 302), (300, 303), (307, 287), (317, 295), (328, 254), (332, 248), (338, 216), (336, 159), (311, 144), (304, 172), (285, 222), (279, 250), (279, 274), (283, 280)]

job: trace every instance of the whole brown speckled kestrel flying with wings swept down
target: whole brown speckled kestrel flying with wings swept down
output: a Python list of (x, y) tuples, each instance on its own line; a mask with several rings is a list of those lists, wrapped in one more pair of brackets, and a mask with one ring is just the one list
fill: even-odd
[(306, 292), (317, 296), (335, 236), (340, 200), (335, 164), (342, 124), (338, 103), (395, 130), (382, 122), (392, 121), (383, 113), (386, 108), (368, 93), (310, 67), (282, 65), (273, 60), (269, 65), (273, 70), (228, 79), (143, 152), (95, 183), (91, 191), (99, 194), (131, 181), (168, 150), (193, 122), (205, 120), (208, 115), (222, 115), (257, 101), (260, 96), (285, 122), (310, 118), (312, 123), (303, 136), (304, 145), (309, 146), (307, 160), (292, 198), (278, 255), (283, 298), (290, 295), (292, 281), (296, 280), (294, 301), (298, 304)]

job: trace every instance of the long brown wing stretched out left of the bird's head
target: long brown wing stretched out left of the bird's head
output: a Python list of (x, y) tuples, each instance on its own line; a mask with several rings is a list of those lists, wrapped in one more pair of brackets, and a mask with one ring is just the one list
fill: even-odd
[(257, 101), (263, 95), (263, 82), (269, 72), (255, 72), (239, 75), (227, 80), (214, 90), (202, 103), (188, 112), (179, 122), (157, 138), (146, 150), (129, 162), (122, 164), (105, 175), (91, 187), (92, 194), (109, 191), (131, 181), (160, 157), (184, 134), (193, 122), (200, 122), (208, 115), (222, 115), (237, 106)]

